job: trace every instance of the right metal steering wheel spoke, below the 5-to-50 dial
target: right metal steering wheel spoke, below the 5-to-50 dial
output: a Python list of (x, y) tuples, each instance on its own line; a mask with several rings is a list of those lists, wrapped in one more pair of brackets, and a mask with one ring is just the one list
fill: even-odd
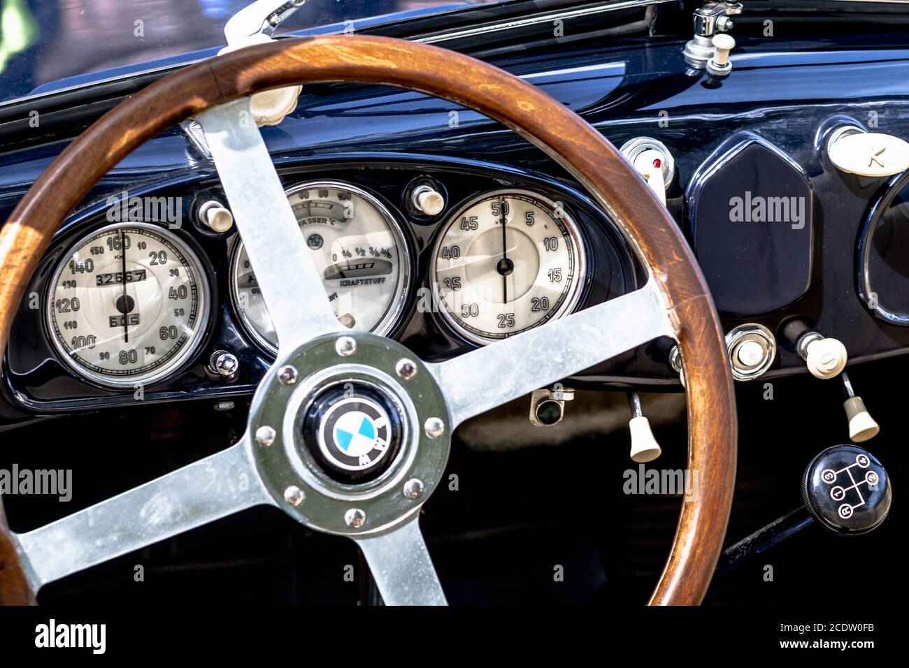
[(659, 336), (674, 336), (654, 280), (495, 344), (427, 364), (445, 394), (451, 429)]

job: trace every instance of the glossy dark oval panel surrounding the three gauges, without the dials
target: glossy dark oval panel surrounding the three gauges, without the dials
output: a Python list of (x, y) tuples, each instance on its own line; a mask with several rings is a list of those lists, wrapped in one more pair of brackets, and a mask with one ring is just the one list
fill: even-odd
[[(589, 255), (591, 271), (583, 286), (582, 304), (603, 302), (634, 288), (631, 255), (613, 225), (584, 194), (551, 178), (503, 169), (498, 165), (483, 165), (477, 161), (439, 161), (431, 156), (420, 160), (414, 155), (399, 159), (392, 155), (373, 155), (368, 159), (361, 156), (330, 162), (320, 160), (306, 165), (285, 159), (279, 161), (278, 169), (286, 188), (314, 179), (355, 184), (375, 194), (383, 204), (405, 219), (405, 243), (415, 258), (415, 266), (411, 267), (413, 284), (405, 314), (390, 335), (426, 360), (441, 361), (474, 344), (454, 334), (435, 310), (420, 307), (421, 297), (431, 294), (428, 279), (430, 254), (446, 216), (441, 214), (426, 218), (408, 208), (404, 197), (406, 186), (417, 178), (431, 174), (435, 183), (440, 184), (448, 195), (451, 203), (449, 211), (476, 194), (508, 186), (530, 189), (562, 202), (564, 211), (581, 226)], [(220, 304), (212, 323), (206, 328), (209, 334), (195, 360), (171, 379), (144, 387), (143, 400), (155, 402), (203, 396), (225, 399), (252, 394), (273, 356), (247, 333), (228, 296), (230, 259), (238, 237), (235, 228), (225, 234), (214, 234), (199, 224), (194, 215), (200, 201), (225, 201), (219, 184), (214, 179), (199, 179), (198, 174), (193, 174), (192, 178), (176, 179), (166, 187), (145, 187), (129, 192), (131, 196), (180, 198), (184, 208), (180, 219), (184, 224), (175, 234), (205, 258), (205, 269), (214, 287), (215, 303)], [(47, 343), (43, 317), (45, 309), (35, 307), (42, 295), (47, 293), (48, 282), (61, 254), (76, 238), (107, 224), (107, 208), (106, 201), (94, 204), (65, 224), (26, 290), (26, 294), (35, 295), (35, 299), (26, 299), (21, 305), (5, 358), (5, 389), (15, 403), (24, 408), (72, 411), (134, 401), (131, 391), (105, 389), (67, 370)], [(233, 353), (240, 361), (239, 373), (230, 382), (208, 368), (208, 360), (215, 350)], [(647, 357), (641, 364), (638, 371), (642, 373), (653, 373), (654, 368), (662, 366), (661, 361)]]

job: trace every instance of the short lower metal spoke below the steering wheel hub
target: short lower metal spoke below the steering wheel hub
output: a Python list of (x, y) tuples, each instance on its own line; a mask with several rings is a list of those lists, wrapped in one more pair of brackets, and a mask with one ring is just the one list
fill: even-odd
[(447, 605), (420, 532), (419, 514), (394, 531), (355, 538), (386, 605)]

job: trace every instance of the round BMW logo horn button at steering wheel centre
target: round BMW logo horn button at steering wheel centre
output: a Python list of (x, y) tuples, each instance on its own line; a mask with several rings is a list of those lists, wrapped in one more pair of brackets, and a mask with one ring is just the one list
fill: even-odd
[(366, 482), (381, 475), (395, 461), (402, 432), (392, 400), (356, 382), (326, 388), (303, 419), (306, 448), (325, 473), (344, 482)]

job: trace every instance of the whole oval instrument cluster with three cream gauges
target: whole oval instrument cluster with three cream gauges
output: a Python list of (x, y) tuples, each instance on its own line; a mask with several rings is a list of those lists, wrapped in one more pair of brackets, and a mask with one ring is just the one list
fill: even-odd
[[(345, 327), (438, 360), (633, 289), (627, 247), (584, 195), (527, 174), (425, 166), (282, 174)], [(181, 194), (148, 196), (176, 196), (182, 224), (141, 213), (111, 223), (103, 204), (65, 224), (11, 336), (4, 389), (17, 404), (59, 411), (255, 389), (278, 342), (236, 226), (213, 229), (199, 214), (229, 210), (224, 194), (215, 181), (171, 193)], [(225, 354), (227, 373), (215, 362)]]

